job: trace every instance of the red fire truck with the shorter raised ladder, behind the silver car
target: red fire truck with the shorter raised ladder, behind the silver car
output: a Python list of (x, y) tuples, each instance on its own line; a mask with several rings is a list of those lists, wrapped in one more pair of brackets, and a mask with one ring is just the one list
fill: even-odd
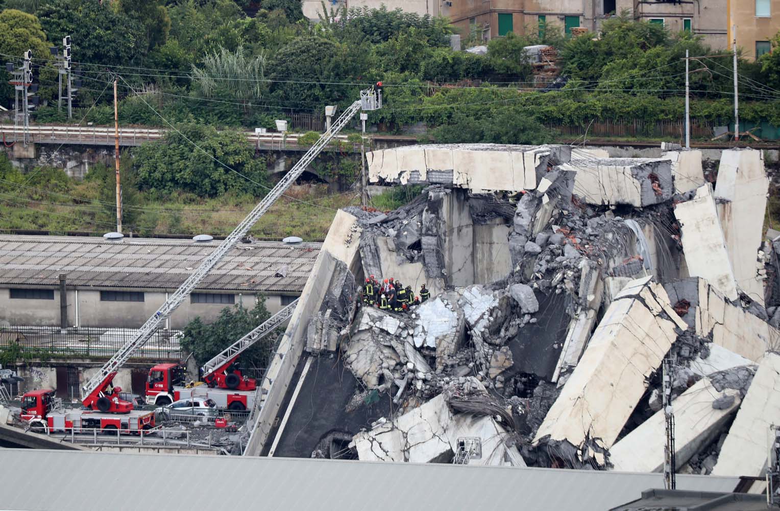
[(213, 400), (218, 408), (246, 410), (254, 405), (257, 381), (246, 377), (236, 366), (241, 353), (257, 341), (282, 326), (293, 316), (298, 300), (285, 306), (260, 326), (234, 342), (200, 368), (203, 381), (186, 383), (183, 366), (176, 363), (158, 364), (149, 370), (146, 384), (147, 404), (164, 406), (179, 399), (200, 398)]

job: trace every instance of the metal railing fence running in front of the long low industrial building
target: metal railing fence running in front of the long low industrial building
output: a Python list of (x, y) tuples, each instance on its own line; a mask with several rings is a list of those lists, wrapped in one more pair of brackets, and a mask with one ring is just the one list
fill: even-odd
[[(0, 350), (21, 357), (110, 357), (137, 334), (134, 328), (0, 327)], [(134, 359), (179, 360), (181, 331), (158, 330)]]

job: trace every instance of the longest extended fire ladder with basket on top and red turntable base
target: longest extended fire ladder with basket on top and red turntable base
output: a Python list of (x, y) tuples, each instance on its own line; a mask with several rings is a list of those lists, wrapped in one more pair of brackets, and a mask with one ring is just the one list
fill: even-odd
[(98, 409), (101, 412), (115, 413), (129, 413), (129, 411), (133, 409), (133, 404), (120, 399), (119, 391), (112, 385), (114, 377), (116, 376), (117, 371), (119, 371), (119, 367), (124, 365), (124, 363), (133, 356), (133, 352), (146, 344), (152, 334), (157, 331), (160, 323), (170, 316), (171, 313), (186, 300), (187, 296), (189, 296), (193, 289), (197, 287), (197, 284), (199, 284), (230, 249), (249, 232), (254, 224), (257, 223), (257, 220), (260, 220), (261, 216), (263, 216), (268, 209), (271, 208), (271, 205), (284, 194), (287, 188), (295, 183), (295, 180), (300, 177), (307, 166), (317, 157), (322, 149), (332, 141), (335, 135), (346, 127), (353, 116), (361, 109), (380, 109), (381, 103), (381, 91), (378, 92), (371, 89), (360, 91), (360, 99), (353, 102), (352, 105), (349, 105), (349, 108), (344, 110), (342, 115), (332, 123), (330, 129), (322, 134), (319, 140), (309, 148), (298, 163), (282, 177), (282, 180), (279, 180), (275, 187), (268, 192), (268, 195), (252, 209), (246, 218), (236, 226), (232, 233), (222, 241), (215, 251), (211, 252), (211, 254), (200, 263), (200, 266), (197, 267), (190, 277), (187, 277), (186, 281), (184, 281), (179, 289), (177, 289), (168, 300), (162, 304), (160, 309), (158, 309), (158, 311), (138, 329), (135, 336), (122, 345), (122, 348), (119, 348), (119, 352), (116, 352), (115, 355), (83, 385), (81, 388), (81, 402), (84, 406), (90, 409)]

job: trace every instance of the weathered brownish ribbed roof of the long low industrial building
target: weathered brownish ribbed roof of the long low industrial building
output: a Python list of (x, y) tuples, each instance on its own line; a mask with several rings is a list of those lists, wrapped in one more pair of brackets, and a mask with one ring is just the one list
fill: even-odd
[[(219, 241), (64, 236), (0, 236), (0, 284), (176, 289)], [(239, 244), (211, 270), (200, 290), (300, 292), (321, 243)], [(286, 277), (275, 273), (287, 266)]]

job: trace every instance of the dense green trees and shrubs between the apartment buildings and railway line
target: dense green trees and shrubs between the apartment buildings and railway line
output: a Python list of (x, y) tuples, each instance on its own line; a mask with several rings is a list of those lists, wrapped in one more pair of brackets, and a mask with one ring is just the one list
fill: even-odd
[[(73, 36), (84, 82), (76, 115), (95, 124), (112, 121), (104, 94), (112, 73), (120, 75), (122, 123), (165, 125), (165, 118), (215, 127), (273, 127), (293, 113), (319, 115), (324, 105), (343, 108), (360, 88), (382, 80), (385, 109), (372, 119), (386, 130), (424, 122), (441, 128), (434, 133), (447, 141), (459, 133), (462, 141), (547, 140), (552, 134), (541, 125), (679, 119), (686, 50), (707, 55), (692, 62), (693, 71), (702, 70), (691, 74), (693, 117), (724, 123), (731, 116), (729, 52), (627, 13), (605, 20), (598, 34), (567, 39), (550, 24), (495, 38), (487, 55), (474, 55), (449, 47), (447, 20), (384, 7), (346, 11), (323, 2), (319, 23), (311, 24), (297, 0), (262, 2), (254, 17), (246, 16), (245, 0), (5, 0), (2, 6), (0, 48), (17, 58), (34, 48), (44, 100), (55, 95), (50, 41)], [(13, 27), (12, 37), (4, 26)], [(569, 78), (562, 90), (532, 87), (523, 47), (534, 44), (558, 49)], [(764, 86), (780, 87), (778, 55), (758, 63), (739, 59), (743, 120), (780, 123), (780, 101)], [(0, 102), (11, 97), (0, 79)], [(516, 116), (522, 124), (506, 122)], [(65, 118), (44, 106), (37, 120)]]

